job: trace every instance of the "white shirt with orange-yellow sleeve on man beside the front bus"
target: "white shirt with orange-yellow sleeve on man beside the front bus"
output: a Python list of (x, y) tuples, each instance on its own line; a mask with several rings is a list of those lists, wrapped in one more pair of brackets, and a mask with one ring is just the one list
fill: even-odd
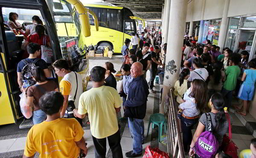
[[(77, 75), (77, 92), (76, 92), (76, 75)], [(79, 97), (83, 93), (83, 80), (82, 77), (79, 73), (76, 73), (71, 71), (70, 73), (67, 73), (63, 79), (61, 79), (60, 82), (60, 91), (62, 95), (69, 95), (68, 100), (73, 100), (74, 101), (74, 96), (76, 94), (76, 100), (75, 100), (75, 106), (78, 108), (78, 102), (79, 102)]]

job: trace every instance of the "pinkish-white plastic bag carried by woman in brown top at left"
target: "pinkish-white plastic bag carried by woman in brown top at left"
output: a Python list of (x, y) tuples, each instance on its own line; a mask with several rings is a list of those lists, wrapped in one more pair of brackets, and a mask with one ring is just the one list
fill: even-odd
[(33, 115), (33, 109), (32, 107), (27, 106), (26, 102), (27, 102), (27, 96), (25, 92), (22, 92), (20, 94), (20, 111), (24, 117), (31, 118), (31, 116)]

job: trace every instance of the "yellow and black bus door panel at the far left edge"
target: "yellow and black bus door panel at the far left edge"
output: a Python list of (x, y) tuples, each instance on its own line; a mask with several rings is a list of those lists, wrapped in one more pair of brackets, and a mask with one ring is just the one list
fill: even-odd
[[(12, 85), (13, 76), (16, 70), (13, 66), (9, 64), (9, 54), (8, 54), (8, 42), (12, 43), (13, 39), (6, 37), (12, 34), (9, 26), (5, 23), (3, 19), (2, 8), (0, 7), (0, 125), (2, 124), (12, 124), (17, 123), (17, 109), (15, 108), (15, 101), (17, 101), (17, 94), (20, 93), (19, 86), (15, 88)], [(14, 36), (15, 37), (15, 36)], [(12, 45), (15, 48), (15, 45)], [(16, 51), (16, 53), (19, 53)], [(17, 73), (16, 73), (17, 74)], [(13, 76), (13, 77), (12, 77)], [(16, 78), (17, 80), (17, 78)]]

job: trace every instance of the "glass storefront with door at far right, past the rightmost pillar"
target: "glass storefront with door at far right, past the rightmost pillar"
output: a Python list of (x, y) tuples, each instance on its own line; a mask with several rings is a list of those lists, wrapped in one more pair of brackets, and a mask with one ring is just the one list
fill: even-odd
[(230, 17), (224, 46), (241, 53), (248, 51), (249, 60), (256, 57), (256, 16)]

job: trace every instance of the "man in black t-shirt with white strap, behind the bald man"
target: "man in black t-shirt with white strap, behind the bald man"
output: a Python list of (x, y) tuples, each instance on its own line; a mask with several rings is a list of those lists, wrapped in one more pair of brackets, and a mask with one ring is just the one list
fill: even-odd
[(148, 52), (150, 45), (149, 43), (145, 43), (143, 45), (143, 49), (141, 51), (137, 51), (136, 56), (138, 58), (138, 62), (143, 65), (143, 78), (146, 79), (147, 71), (151, 65), (151, 54)]

